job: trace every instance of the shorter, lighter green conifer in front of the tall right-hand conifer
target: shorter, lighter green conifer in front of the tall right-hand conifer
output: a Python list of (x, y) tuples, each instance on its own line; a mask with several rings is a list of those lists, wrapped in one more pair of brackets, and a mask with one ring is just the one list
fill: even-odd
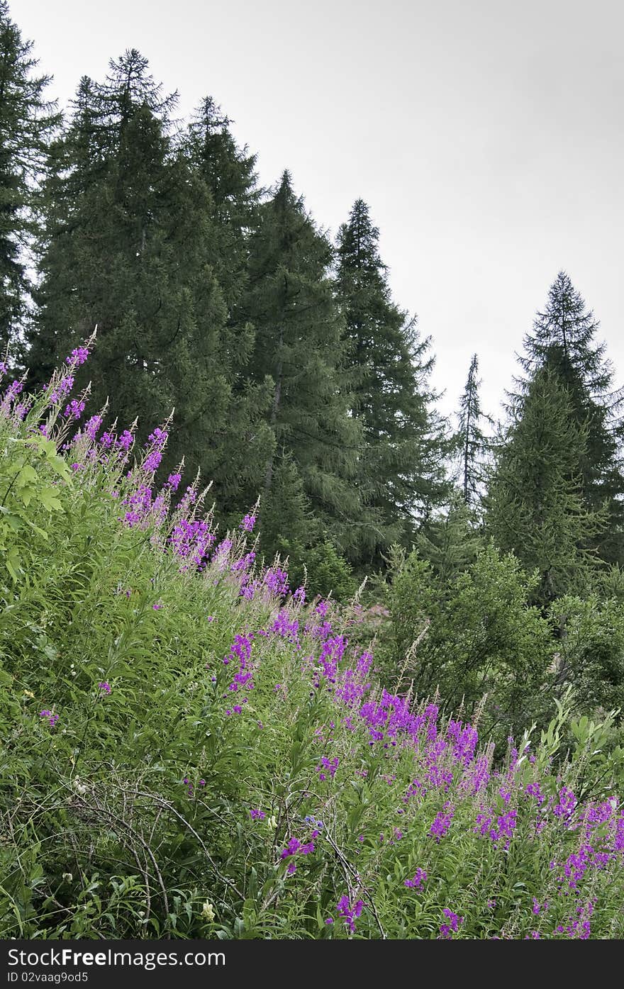
[(587, 432), (575, 418), (567, 388), (543, 366), (498, 444), (486, 499), (487, 532), (527, 573), (539, 572), (541, 604), (582, 590), (595, 566), (588, 547), (606, 518), (582, 496), (579, 463)]

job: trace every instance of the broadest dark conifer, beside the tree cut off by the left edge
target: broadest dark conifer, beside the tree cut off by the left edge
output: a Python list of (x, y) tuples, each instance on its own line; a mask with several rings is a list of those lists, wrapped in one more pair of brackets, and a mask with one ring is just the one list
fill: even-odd
[(167, 462), (184, 454), (218, 498), (235, 501), (241, 478), (258, 482), (270, 446), (269, 393), (233, 401), (212, 199), (172, 140), (174, 105), (134, 49), (111, 62), (105, 83), (81, 81), (53, 149), (32, 363), (45, 381), (97, 324), (78, 382), (91, 379), (93, 405), (108, 397), (121, 423), (138, 416), (140, 437), (175, 406)]

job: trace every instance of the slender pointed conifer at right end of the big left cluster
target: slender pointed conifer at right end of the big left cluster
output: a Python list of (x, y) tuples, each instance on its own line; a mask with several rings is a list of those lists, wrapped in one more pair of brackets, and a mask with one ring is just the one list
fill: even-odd
[(379, 230), (361, 199), (338, 231), (336, 253), (336, 290), (354, 382), (351, 410), (364, 427), (359, 484), (375, 523), (363, 546), (371, 565), (391, 543), (409, 542), (416, 520), (448, 494), (448, 446), (428, 385), (430, 340), (419, 336), (415, 319), (392, 300)]

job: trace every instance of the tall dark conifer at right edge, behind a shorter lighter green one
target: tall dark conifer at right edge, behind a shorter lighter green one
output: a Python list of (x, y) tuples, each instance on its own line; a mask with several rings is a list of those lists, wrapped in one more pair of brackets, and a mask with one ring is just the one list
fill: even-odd
[[(526, 377), (519, 379), (519, 396), (530, 387), (535, 371), (548, 367), (567, 389), (574, 421), (586, 429), (586, 443), (575, 464), (580, 494), (587, 510), (605, 502), (609, 524), (591, 543), (607, 563), (624, 563), (624, 440), (622, 391), (613, 391), (613, 369), (605, 359), (604, 343), (594, 341), (599, 323), (588, 312), (566, 272), (551, 286), (544, 312), (524, 339), (520, 358)], [(517, 401), (517, 400), (516, 400)]]

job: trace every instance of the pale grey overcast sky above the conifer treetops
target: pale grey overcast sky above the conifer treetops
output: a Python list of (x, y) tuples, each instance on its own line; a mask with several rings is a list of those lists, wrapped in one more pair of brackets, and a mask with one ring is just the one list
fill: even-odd
[(624, 384), (621, 0), (9, 0), (61, 105), (138, 48), (188, 115), (212, 95), (263, 185), (330, 234), (353, 201), (457, 405), (493, 415), (565, 269)]

